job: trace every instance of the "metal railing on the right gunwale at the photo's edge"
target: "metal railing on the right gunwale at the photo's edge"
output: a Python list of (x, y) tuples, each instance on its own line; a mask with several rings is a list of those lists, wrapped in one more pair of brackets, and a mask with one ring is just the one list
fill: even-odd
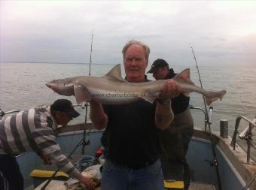
[(256, 147), (254, 146), (254, 144), (252, 143), (253, 139), (252, 139), (252, 128), (256, 127), (256, 117), (253, 120), (250, 120), (248, 118), (246, 118), (245, 116), (238, 116), (236, 118), (236, 125), (235, 125), (235, 131), (233, 132), (233, 137), (232, 137), (232, 141), (230, 143), (230, 146), (233, 146), (233, 150), (236, 149), (236, 136), (239, 133), (238, 132), (238, 128), (239, 128), (239, 124), (241, 122), (241, 119), (245, 120), (245, 122), (248, 122), (248, 126), (244, 129), (244, 131), (242, 131), (239, 134), (239, 138), (241, 140), (245, 140), (247, 143), (247, 164), (250, 163), (250, 158), (251, 158), (251, 147), (253, 147), (254, 149), (256, 149)]

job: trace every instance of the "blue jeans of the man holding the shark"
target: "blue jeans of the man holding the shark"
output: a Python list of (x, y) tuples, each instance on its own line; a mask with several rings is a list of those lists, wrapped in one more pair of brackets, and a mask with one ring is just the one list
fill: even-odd
[(102, 190), (164, 190), (160, 161), (140, 169), (131, 169), (106, 160)]

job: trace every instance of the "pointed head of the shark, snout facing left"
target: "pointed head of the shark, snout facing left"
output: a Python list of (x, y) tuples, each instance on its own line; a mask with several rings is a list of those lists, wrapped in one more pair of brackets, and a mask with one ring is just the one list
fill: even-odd
[(47, 87), (52, 89), (59, 95), (74, 95), (74, 77), (66, 79), (52, 80), (46, 84)]

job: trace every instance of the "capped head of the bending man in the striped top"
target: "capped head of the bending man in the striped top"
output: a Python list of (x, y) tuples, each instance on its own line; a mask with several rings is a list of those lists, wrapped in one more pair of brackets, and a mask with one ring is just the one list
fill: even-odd
[(73, 118), (80, 114), (74, 109), (71, 101), (58, 99), (50, 106), (50, 113), (58, 125), (67, 125)]

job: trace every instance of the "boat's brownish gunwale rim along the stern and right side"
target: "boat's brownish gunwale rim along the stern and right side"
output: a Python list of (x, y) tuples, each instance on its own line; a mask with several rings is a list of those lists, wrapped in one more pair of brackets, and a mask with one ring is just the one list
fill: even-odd
[[(88, 123), (78, 123), (74, 125), (67, 125), (62, 128), (58, 128), (56, 130), (57, 136), (66, 136), (66, 135), (75, 135), (81, 134), (84, 132), (84, 129), (90, 133), (94, 132), (102, 132), (105, 129), (97, 130), (93, 128), (93, 124), (91, 122)], [(224, 157), (224, 160), (229, 164), (231, 170), (236, 170), (235, 175), (239, 179), (239, 182), (242, 185), (245, 185), (251, 179), (251, 176), (256, 172), (256, 164), (254, 160), (251, 158), (250, 164), (246, 163), (247, 155), (244, 149), (242, 149), (239, 144), (236, 143), (236, 150), (233, 150), (233, 146), (230, 146), (231, 137), (222, 138), (219, 135), (219, 132), (212, 132), (213, 142), (216, 143), (216, 147), (218, 148), (221, 155)], [(200, 141), (204, 143), (211, 143), (211, 137), (209, 132), (203, 131), (200, 128), (194, 128), (194, 134), (192, 140)], [(18, 155), (20, 156), (20, 155)], [(254, 180), (251, 185), (251, 189), (256, 189), (256, 181)], [(249, 188), (248, 188), (249, 189)]]

